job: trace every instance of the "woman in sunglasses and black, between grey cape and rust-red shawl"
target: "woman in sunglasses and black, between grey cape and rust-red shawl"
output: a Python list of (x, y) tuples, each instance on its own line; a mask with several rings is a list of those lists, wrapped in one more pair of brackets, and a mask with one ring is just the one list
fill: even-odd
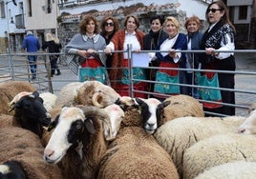
[[(106, 16), (105, 18), (102, 19), (101, 24), (101, 36), (104, 37), (106, 44), (108, 45), (110, 43), (110, 40), (114, 36), (114, 34), (117, 32), (119, 29), (117, 19), (113, 16)], [(111, 62), (112, 58), (111, 55), (107, 55), (107, 60), (106, 60), (106, 67), (109, 70), (111, 68)]]

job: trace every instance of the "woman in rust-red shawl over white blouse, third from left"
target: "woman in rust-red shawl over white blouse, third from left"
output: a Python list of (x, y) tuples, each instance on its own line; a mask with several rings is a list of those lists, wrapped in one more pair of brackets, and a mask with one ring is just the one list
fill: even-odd
[[(132, 44), (132, 50), (143, 49), (144, 33), (139, 31), (139, 19), (135, 15), (127, 15), (124, 19), (124, 29), (118, 30), (111, 42), (106, 47), (105, 52), (110, 54), (113, 50), (127, 50), (127, 46)], [(130, 96), (129, 88), (131, 78), (129, 76), (128, 54), (127, 52), (116, 52), (113, 54), (112, 70), (110, 70), (110, 80), (112, 88), (116, 89), (121, 96)], [(134, 79), (146, 79), (145, 70), (133, 68)], [(145, 90), (144, 82), (133, 82), (134, 89)], [(135, 92), (134, 97), (145, 97), (145, 94)]]

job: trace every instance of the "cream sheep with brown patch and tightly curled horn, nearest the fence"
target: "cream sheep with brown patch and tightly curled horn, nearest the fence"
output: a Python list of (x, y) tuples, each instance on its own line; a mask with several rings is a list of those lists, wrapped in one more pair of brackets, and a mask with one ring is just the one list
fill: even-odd
[(76, 105), (104, 108), (114, 104), (119, 97), (114, 89), (98, 81), (75, 82), (60, 90), (54, 108)]

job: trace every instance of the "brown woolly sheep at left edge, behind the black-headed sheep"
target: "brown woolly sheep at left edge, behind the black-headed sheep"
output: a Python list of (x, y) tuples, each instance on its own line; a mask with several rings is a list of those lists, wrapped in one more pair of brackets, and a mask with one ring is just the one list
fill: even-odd
[(35, 91), (29, 82), (10, 81), (0, 84), (0, 113), (9, 114), (9, 102), (21, 91)]

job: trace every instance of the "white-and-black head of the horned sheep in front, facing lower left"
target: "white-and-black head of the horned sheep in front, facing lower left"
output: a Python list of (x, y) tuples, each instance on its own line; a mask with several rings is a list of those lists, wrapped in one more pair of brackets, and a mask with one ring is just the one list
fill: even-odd
[(96, 107), (63, 108), (52, 125), (55, 129), (44, 151), (44, 159), (48, 163), (59, 162), (68, 149), (75, 149), (82, 157), (82, 149), (78, 147), (86, 147), (95, 142), (91, 137), (98, 133), (100, 128), (103, 128), (106, 140), (112, 138), (108, 115), (103, 109)]

